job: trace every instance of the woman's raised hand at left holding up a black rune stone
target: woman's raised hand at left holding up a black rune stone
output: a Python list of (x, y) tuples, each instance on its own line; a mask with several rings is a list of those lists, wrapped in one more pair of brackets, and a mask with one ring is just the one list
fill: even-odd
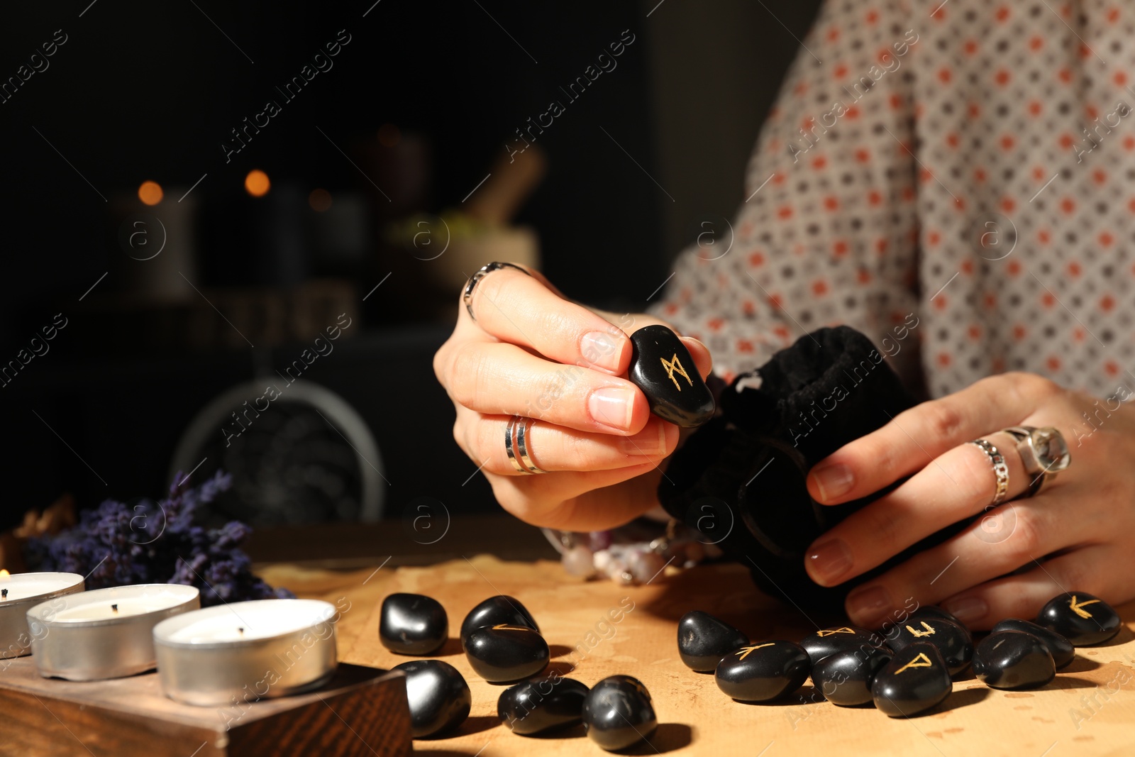
[[(625, 523), (655, 506), (658, 466), (676, 448), (679, 428), (651, 415), (625, 376), (628, 334), (661, 321), (605, 318), (538, 272), (508, 268), (478, 281), (472, 309), (476, 320), (461, 304), (434, 371), (457, 410), (454, 438), (497, 502), (529, 523), (574, 531)], [(708, 350), (683, 343), (707, 376)], [(512, 466), (505, 429), (513, 415), (533, 419), (528, 451), (548, 473)]]

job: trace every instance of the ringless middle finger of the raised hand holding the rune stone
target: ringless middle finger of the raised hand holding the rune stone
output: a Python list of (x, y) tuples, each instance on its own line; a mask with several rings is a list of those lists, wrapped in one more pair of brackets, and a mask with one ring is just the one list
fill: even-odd
[(471, 342), (449, 356), (449, 396), (488, 415), (524, 415), (580, 431), (627, 436), (650, 418), (646, 396), (627, 379), (561, 365), (503, 343)]

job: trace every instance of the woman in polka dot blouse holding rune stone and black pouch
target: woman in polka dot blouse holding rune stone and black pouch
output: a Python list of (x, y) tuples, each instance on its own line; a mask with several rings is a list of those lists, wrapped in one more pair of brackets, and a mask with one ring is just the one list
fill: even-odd
[[(1081, 5), (825, 6), (757, 142), (731, 252), (687, 250), (651, 316), (590, 311), (535, 271), (480, 277), (435, 367), (501, 504), (570, 530), (656, 504), (680, 434), (621, 378), (628, 333), (665, 319), (728, 381), (848, 323), (890, 337), (892, 368), (934, 398), (810, 471), (824, 504), (910, 477), (816, 540), (813, 580), (1022, 497), (1001, 536), (974, 523), (856, 588), (854, 622), (911, 596), (974, 629), (1069, 589), (1135, 597), (1135, 10)], [(513, 415), (539, 419), (530, 466), (502, 444)], [(1059, 431), (1067, 471), (1051, 435), (1003, 430), (1023, 426)]]

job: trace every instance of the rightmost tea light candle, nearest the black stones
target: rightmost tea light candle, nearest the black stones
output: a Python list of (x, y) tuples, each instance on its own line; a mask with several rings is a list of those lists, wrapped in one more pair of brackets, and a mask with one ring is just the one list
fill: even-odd
[(232, 708), (322, 685), (335, 673), (335, 606), (318, 599), (254, 599), (208, 607), (153, 629), (167, 697)]

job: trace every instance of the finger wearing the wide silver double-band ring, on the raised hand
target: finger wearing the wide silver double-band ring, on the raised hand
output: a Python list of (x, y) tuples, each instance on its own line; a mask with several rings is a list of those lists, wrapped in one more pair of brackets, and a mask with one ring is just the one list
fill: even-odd
[[(479, 415), (461, 419), (462, 449), (482, 470), (501, 476), (526, 476), (508, 457), (512, 439), (507, 436), (508, 415)], [(679, 429), (661, 418), (650, 418), (632, 436), (588, 434), (530, 420), (524, 431), (524, 447), (532, 464), (544, 471), (599, 471), (644, 463), (657, 464), (678, 447)]]

